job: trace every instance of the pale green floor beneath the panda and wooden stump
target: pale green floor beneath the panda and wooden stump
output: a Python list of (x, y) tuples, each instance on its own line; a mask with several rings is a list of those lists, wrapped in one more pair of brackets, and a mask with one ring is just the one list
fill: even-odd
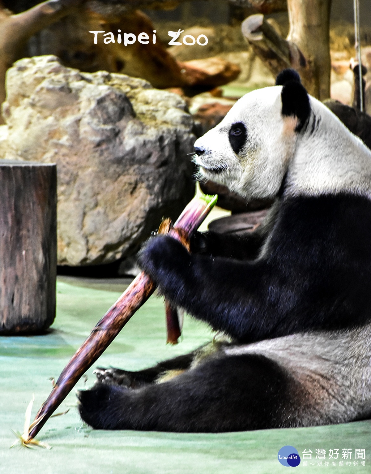
[[(46, 336), (0, 337), (0, 472), (1, 473), (184, 473), (272, 474), (287, 472), (277, 461), (278, 450), (292, 445), (304, 449), (353, 449), (352, 465), (305, 466), (305, 472), (371, 473), (371, 422), (255, 432), (174, 434), (136, 431), (94, 431), (83, 425), (72, 392), (60, 411), (49, 419), (37, 437), (50, 451), (14, 447), (11, 429), (22, 431), (28, 402), (35, 394), (33, 417), (51, 390), (49, 377), (57, 378), (90, 329), (117, 299), (125, 282), (89, 283), (61, 278), (53, 331)], [(161, 299), (152, 297), (129, 321), (97, 365), (140, 369), (156, 361), (189, 351), (210, 339), (207, 327), (187, 318), (183, 341), (165, 346)], [(91, 368), (86, 386), (94, 382)], [(83, 381), (77, 388), (84, 386)], [(365, 448), (365, 466), (353, 465), (356, 448)], [(328, 456), (326, 455), (326, 459)]]

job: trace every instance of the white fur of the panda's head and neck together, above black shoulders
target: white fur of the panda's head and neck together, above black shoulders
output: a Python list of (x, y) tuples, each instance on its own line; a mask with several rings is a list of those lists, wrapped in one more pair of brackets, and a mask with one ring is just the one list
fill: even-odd
[[(248, 200), (274, 198), (287, 171), (288, 195), (351, 191), (370, 196), (369, 148), (313, 97), (306, 132), (298, 135), (297, 118), (280, 113), (281, 90), (282, 86), (274, 86), (246, 94), (217, 127), (195, 142), (205, 149), (194, 158), (199, 178), (224, 184)], [(236, 121), (244, 122), (247, 129), (240, 156), (226, 140)], [(219, 166), (225, 171), (208, 171)]]

